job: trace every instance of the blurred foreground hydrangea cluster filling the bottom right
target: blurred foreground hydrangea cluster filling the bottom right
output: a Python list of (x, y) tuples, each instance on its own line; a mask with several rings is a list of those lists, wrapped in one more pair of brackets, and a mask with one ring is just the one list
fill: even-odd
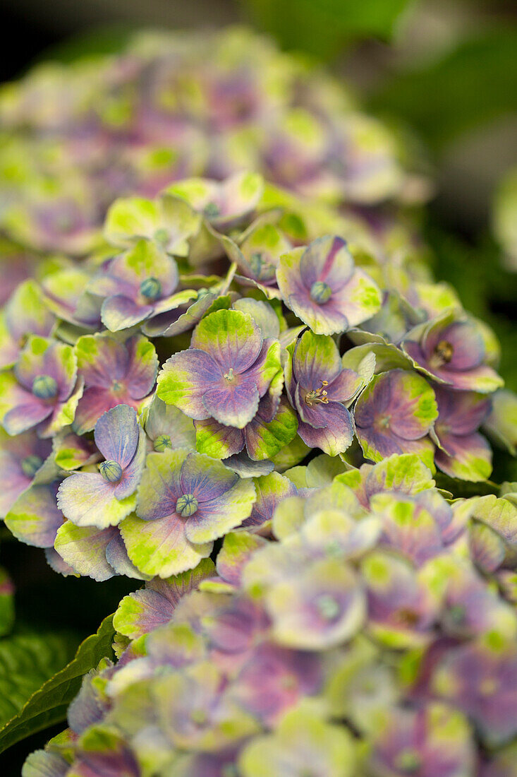
[(124, 598), (23, 777), (512, 774), (515, 491), (447, 500), (416, 453), (332, 472), (262, 476), (215, 565)]

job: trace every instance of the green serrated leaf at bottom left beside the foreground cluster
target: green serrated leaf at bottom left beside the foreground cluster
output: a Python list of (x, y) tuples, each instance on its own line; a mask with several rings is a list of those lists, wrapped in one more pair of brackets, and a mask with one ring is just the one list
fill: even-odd
[(30, 734), (65, 719), (68, 705), (81, 688), (83, 674), (96, 667), (102, 658), (112, 657), (114, 633), (113, 615), (109, 615), (99, 630), (81, 643), (70, 663), (50, 679), (47, 679), (49, 675), (68, 658), (62, 637), (60, 641), (57, 635), (44, 639), (21, 635), (0, 643), (3, 674), (0, 674), (0, 716), (4, 721), (0, 729), (0, 753)]

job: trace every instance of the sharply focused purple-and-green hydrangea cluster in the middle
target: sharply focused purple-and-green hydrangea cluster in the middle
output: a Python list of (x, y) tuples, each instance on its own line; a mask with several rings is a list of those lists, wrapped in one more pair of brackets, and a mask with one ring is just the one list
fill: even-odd
[(2, 312), (0, 508), (55, 570), (191, 570), (314, 451), (333, 475), (413, 454), (452, 490), (490, 476), (497, 343), (412, 253), (254, 172), (116, 200), (103, 240)]

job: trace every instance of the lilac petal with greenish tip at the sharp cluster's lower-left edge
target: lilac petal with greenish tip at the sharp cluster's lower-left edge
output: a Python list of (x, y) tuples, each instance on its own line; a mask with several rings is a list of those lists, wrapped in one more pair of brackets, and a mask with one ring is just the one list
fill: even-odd
[(22, 542), (36, 548), (51, 548), (63, 515), (56, 504), (57, 483), (31, 486), (5, 517), (5, 525)]

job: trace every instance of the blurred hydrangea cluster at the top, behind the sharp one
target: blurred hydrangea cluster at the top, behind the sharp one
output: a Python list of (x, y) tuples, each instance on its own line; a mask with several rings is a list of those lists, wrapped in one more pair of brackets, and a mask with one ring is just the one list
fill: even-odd
[(427, 189), (341, 84), (241, 29), (147, 33), (118, 56), (42, 64), (2, 87), (0, 129), (2, 228), (40, 251), (84, 255), (116, 197), (190, 176), (258, 169), (361, 207)]

